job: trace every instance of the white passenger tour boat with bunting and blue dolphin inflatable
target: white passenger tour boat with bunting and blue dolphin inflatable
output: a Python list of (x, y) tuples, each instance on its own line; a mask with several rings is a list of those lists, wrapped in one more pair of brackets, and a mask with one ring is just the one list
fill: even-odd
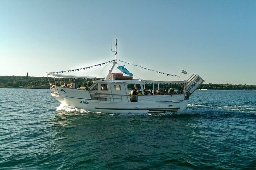
[[(101, 79), (97, 79), (96, 76), (73, 76), (63, 74), (65, 72), (85, 70), (92, 66), (74, 70), (48, 72), (47, 77), (51, 89), (51, 96), (55, 97), (61, 104), (74, 106), (91, 112), (125, 114), (182, 112), (187, 109), (190, 95), (204, 82), (198, 74), (193, 74), (188, 80), (153, 81), (134, 79), (133, 74), (124, 66), (118, 67), (121, 73), (112, 73), (118, 61), (130, 64), (130, 62), (117, 60), (117, 39), (115, 41), (115, 51), (113, 52), (115, 53), (114, 60), (101, 63), (102, 65), (106, 63), (113, 64), (107, 76)], [(95, 66), (100, 66), (101, 64), (96, 64)], [(155, 71), (142, 66), (139, 67), (149, 71)], [(159, 71), (156, 72), (166, 74), (167, 76), (177, 76)], [(127, 76), (124, 76), (124, 74)], [(49, 77), (54, 78), (54, 83), (50, 82)], [(69, 80), (72, 79), (72, 81), (75, 81), (75, 79), (85, 79), (87, 87), (83, 87), (82, 89), (74, 87), (69, 88), (66, 87), (66, 85), (61, 85), (61, 82), (58, 83), (57, 78), (59, 78), (59, 81), (60, 78), (69, 78)], [(92, 85), (88, 84), (88, 79), (94, 80)], [(72, 85), (71, 81), (70, 84)], [(73, 84), (75, 83), (73, 82)], [(152, 84), (152, 91), (145, 90), (146, 85)], [(165, 91), (159, 89), (159, 85), (163, 84), (169, 85), (169, 88)], [(176, 89), (175, 92), (175, 90), (172, 89), (174, 84), (179, 84), (182, 89), (178, 91)], [(157, 87), (157, 91), (154, 85)], [(131, 86), (133, 90), (128, 89), (128, 87)], [(140, 91), (140, 93), (136, 94), (136, 90)]]

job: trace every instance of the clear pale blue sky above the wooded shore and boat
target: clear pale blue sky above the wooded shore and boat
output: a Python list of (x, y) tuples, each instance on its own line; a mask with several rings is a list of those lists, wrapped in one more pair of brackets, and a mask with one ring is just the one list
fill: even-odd
[[(118, 60), (187, 72), (120, 63), (140, 79), (256, 84), (255, 9), (254, 0), (0, 0), (0, 76), (104, 63), (117, 37)], [(73, 74), (105, 77), (110, 68)]]

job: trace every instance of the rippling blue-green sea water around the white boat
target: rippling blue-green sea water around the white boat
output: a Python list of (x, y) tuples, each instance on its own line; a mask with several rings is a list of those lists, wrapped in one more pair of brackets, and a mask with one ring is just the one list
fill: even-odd
[(0, 89), (0, 169), (255, 169), (256, 91), (195, 91), (181, 113), (104, 114)]

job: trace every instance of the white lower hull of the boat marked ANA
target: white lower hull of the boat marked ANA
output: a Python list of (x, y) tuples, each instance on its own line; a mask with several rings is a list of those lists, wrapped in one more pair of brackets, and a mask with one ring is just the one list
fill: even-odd
[(51, 94), (60, 103), (101, 113), (165, 113), (182, 112), (187, 109), (188, 100), (159, 102), (113, 102), (102, 100), (78, 99)]

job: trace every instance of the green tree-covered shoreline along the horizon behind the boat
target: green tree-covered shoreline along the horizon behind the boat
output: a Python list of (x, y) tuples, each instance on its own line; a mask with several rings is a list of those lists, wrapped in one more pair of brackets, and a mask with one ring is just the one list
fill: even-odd
[[(56, 82), (64, 84), (64, 82), (69, 83), (68, 78), (56, 78)], [(49, 78), (50, 83), (54, 83), (54, 78)], [(89, 86), (92, 85), (93, 80), (88, 79)], [(75, 79), (75, 82), (81, 86), (87, 86), (85, 79)], [(29, 76), (0, 76), (0, 87), (7, 88), (32, 88), (34, 86), (40, 87), (44, 86), (49, 88), (49, 82), (47, 77), (29, 77)], [(132, 88), (133, 85), (128, 86)], [(169, 88), (167, 84), (159, 85), (159, 88)], [(153, 89), (153, 85), (146, 85), (146, 88)], [(154, 85), (154, 89), (157, 89), (158, 86)], [(174, 84), (173, 88), (182, 88), (180, 84)], [(256, 85), (232, 85), (232, 84), (202, 84), (200, 85), (201, 89), (208, 90), (256, 90)]]

